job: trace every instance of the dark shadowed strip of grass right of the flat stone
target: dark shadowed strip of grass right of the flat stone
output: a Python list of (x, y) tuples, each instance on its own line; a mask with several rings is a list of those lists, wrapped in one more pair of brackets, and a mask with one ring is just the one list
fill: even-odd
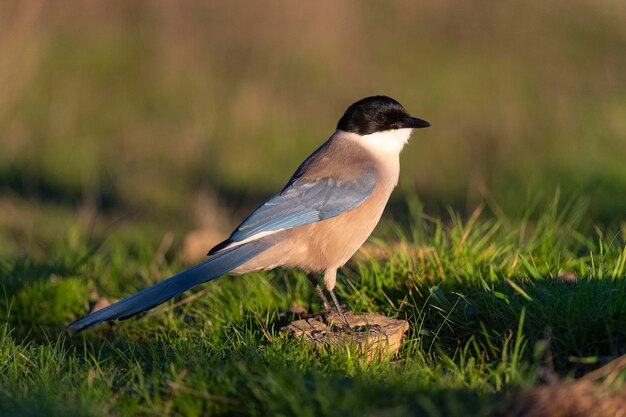
[[(489, 284), (454, 279), (403, 284), (382, 288), (384, 295), (370, 290), (376, 308), (406, 318), (410, 337), (422, 339), (420, 346), (433, 353), (454, 356), (470, 348), (498, 360), (522, 315), (525, 359), (543, 361), (549, 355), (563, 376), (586, 373), (626, 353), (626, 276), (576, 283), (511, 277)], [(393, 309), (388, 300), (402, 307)]]

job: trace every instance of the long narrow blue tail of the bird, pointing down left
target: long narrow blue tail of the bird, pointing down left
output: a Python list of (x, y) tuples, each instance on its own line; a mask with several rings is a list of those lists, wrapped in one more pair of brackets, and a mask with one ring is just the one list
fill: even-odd
[(149, 310), (181, 294), (191, 287), (218, 278), (267, 249), (264, 242), (252, 241), (227, 249), (206, 261), (192, 266), (152, 287), (143, 289), (102, 310), (95, 311), (70, 323), (67, 327), (76, 332), (88, 329), (103, 321), (124, 320)]

